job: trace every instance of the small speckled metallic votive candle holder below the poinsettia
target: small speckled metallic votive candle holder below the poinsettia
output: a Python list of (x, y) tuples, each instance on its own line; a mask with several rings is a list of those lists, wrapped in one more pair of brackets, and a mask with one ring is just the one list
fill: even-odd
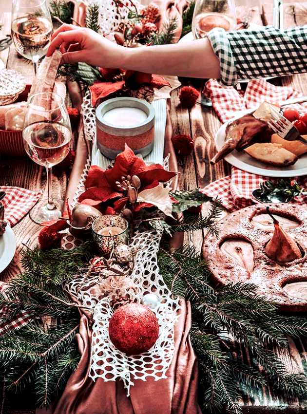
[(92, 234), (96, 248), (103, 256), (110, 256), (118, 245), (128, 243), (129, 223), (116, 215), (98, 217), (92, 223)]

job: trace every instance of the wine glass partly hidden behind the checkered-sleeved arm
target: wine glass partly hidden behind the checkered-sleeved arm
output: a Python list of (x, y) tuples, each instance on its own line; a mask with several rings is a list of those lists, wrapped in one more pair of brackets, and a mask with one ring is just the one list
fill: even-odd
[[(192, 18), (194, 39), (205, 38), (214, 27), (221, 27), (227, 32), (237, 26), (234, 0), (196, 0)], [(211, 99), (201, 94), (200, 103), (212, 106)]]

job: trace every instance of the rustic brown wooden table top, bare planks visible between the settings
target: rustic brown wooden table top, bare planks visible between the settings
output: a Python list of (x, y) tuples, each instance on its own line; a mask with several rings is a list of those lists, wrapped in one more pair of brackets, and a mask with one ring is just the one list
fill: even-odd
[[(5, 4), (4, 4), (5, 3)], [(307, 24), (307, 0), (287, 1), (285, 4), (285, 26)], [(261, 25), (272, 24), (273, 1), (272, 0), (237, 0), (239, 13), (247, 15), (250, 10), (251, 21)], [(1, 1), (0, 24), (3, 24), (0, 38), (10, 33), (10, 8), (11, 1)], [(9, 69), (21, 72), (27, 83), (31, 83), (34, 71), (31, 63), (19, 58), (11, 46), (9, 49), (0, 52), (0, 59)], [(1, 63), (1, 62), (0, 62)], [(190, 82), (190, 81), (189, 81)], [(276, 85), (292, 86), (295, 90), (307, 94), (307, 74), (285, 76), (272, 80)], [(191, 82), (190, 82), (191, 84)], [(199, 81), (195, 84), (200, 88)], [(174, 133), (191, 135), (194, 138), (194, 152), (185, 158), (178, 159), (179, 187), (181, 189), (203, 188), (212, 181), (230, 173), (230, 165), (224, 161), (214, 166), (210, 165), (210, 159), (215, 152), (214, 135), (221, 123), (214, 111), (210, 108), (201, 107), (196, 104), (192, 110), (182, 109), (179, 105), (179, 91), (175, 90), (171, 99), (171, 120)], [(64, 198), (67, 187), (68, 173), (60, 169), (53, 169), (53, 192), (54, 196)], [(0, 156), (0, 186), (10, 185), (32, 190), (46, 190), (46, 173), (42, 167), (32, 162), (29, 158), (17, 158)], [(46, 195), (46, 192), (44, 193)], [(22, 244), (34, 246), (37, 244), (37, 236), (40, 226), (31, 221), (26, 215), (16, 226), (14, 233), (17, 239), (17, 251), (12, 263), (0, 274), (2, 281), (9, 280), (20, 270), (19, 257)], [(201, 249), (204, 234), (202, 231), (191, 232), (186, 236), (186, 242), (193, 244), (198, 250)], [(288, 350), (281, 355), (282, 360), (289, 367), (290, 372), (299, 372), (307, 365), (307, 342), (292, 340), (289, 341)], [(246, 351), (238, 346), (238, 355), (242, 358), (249, 358)], [(305, 408), (304, 403), (293, 401), (292, 408), (287, 408), (283, 401), (273, 398), (269, 389), (255, 395), (242, 397), (244, 411), (249, 413), (254, 409), (257, 412), (275, 412), (292, 409), (294, 412)], [(307, 407), (307, 404), (306, 404)]]

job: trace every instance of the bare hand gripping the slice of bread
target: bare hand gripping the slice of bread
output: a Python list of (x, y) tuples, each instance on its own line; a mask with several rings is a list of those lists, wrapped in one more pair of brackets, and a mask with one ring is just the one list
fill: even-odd
[(62, 63), (85, 62), (104, 68), (121, 67), (126, 48), (113, 43), (91, 29), (63, 24), (51, 38), (46, 56), (59, 48)]

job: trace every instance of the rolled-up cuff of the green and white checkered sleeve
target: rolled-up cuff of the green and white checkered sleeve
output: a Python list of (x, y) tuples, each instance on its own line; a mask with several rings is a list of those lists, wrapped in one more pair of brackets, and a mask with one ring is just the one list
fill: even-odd
[(207, 37), (220, 61), (220, 82), (227, 86), (236, 85), (238, 83), (237, 71), (227, 33), (224, 29), (216, 27), (207, 34)]

